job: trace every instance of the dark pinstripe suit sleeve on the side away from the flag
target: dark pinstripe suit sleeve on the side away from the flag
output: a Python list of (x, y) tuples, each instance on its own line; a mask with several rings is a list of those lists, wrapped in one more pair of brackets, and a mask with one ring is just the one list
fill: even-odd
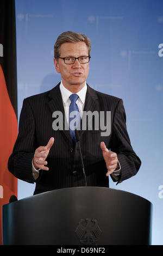
[[(115, 152), (121, 164), (121, 175), (117, 184), (134, 176), (140, 166), (141, 160), (131, 147), (126, 127), (126, 113), (122, 99), (118, 101), (112, 125), (111, 151)], [(113, 179), (114, 180), (114, 179)]]

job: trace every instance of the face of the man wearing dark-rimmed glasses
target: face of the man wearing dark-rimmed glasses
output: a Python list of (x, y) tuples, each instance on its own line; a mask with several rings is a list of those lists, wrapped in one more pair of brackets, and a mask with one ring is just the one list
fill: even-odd
[[(60, 57), (80, 57), (89, 56), (85, 42), (65, 42), (60, 47)], [(65, 64), (63, 59), (54, 59), (55, 69), (61, 74), (62, 83), (70, 90), (84, 87), (89, 74), (89, 63), (80, 64), (76, 59), (74, 64)], [(78, 90), (77, 89), (77, 90)]]

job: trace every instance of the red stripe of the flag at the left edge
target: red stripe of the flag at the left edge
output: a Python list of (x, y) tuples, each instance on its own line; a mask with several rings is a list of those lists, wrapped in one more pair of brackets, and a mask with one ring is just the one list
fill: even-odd
[(17, 196), (17, 179), (8, 170), (8, 159), (17, 138), (17, 118), (0, 65), (0, 244), (2, 244), (2, 205)]

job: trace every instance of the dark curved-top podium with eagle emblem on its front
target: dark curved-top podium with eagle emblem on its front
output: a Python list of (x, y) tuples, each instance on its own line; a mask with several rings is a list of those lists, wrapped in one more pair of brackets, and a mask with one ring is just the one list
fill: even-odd
[(3, 205), (3, 245), (150, 245), (152, 204), (104, 187), (72, 187)]

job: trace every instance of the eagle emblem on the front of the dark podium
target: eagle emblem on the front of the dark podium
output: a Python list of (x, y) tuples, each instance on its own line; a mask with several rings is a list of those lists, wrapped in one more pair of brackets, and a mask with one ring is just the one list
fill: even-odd
[(96, 245), (96, 241), (102, 233), (97, 220), (90, 218), (80, 220), (75, 232), (81, 245)]

